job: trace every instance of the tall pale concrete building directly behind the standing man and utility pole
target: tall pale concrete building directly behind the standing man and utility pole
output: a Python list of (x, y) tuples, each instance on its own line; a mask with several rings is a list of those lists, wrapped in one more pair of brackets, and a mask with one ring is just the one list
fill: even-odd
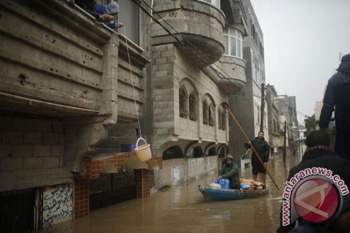
[[(260, 131), (261, 112), (261, 83), (265, 82), (265, 61), (264, 61), (264, 37), (255, 15), (253, 6), (249, 0), (243, 0), (244, 19), (247, 22), (248, 36), (243, 39), (243, 60), (246, 61), (246, 86), (248, 92), (240, 90), (239, 93), (230, 95), (229, 105), (233, 115), (236, 116), (247, 137), (257, 137)], [(254, 95), (252, 95), (254, 94)], [(264, 133), (268, 140), (268, 118), (267, 108), (264, 109)], [(246, 139), (241, 135), (238, 127), (230, 120), (230, 144), (229, 152), (240, 164), (241, 156), (248, 156), (244, 143)]]

